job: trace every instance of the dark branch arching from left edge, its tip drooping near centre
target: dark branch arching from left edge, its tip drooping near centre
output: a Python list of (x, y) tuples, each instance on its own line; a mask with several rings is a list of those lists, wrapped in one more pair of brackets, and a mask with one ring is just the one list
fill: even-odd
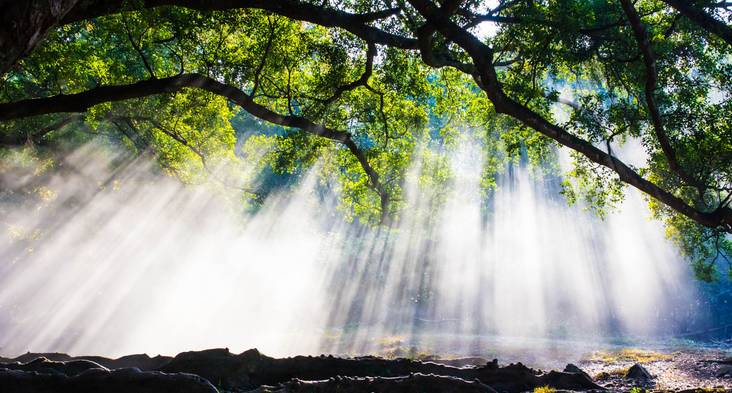
[(254, 102), (244, 91), (201, 74), (182, 74), (161, 79), (149, 79), (129, 85), (100, 86), (82, 93), (33, 98), (0, 104), (0, 121), (20, 119), (29, 116), (63, 112), (85, 112), (94, 105), (104, 102), (123, 101), (155, 94), (174, 93), (182, 88), (197, 88), (225, 97), (253, 116), (283, 127), (298, 128), (309, 134), (321, 136), (343, 144), (356, 157), (369, 178), (371, 188), (379, 194), (382, 205), (382, 220), (388, 212), (388, 193), (371, 167), (365, 153), (356, 145), (351, 134), (336, 130), (295, 115), (281, 115)]

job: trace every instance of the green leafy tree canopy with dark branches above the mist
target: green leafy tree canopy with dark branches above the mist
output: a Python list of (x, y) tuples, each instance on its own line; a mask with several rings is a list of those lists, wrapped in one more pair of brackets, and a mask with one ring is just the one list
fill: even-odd
[[(570, 201), (603, 212), (637, 188), (712, 279), (732, 251), (730, 7), (2, 1), (0, 143), (103, 137), (153, 152), (184, 180), (248, 157), (277, 172), (320, 161), (348, 214), (373, 224), (400, 214), (425, 143), (474, 136), (486, 188), (517, 155), (547, 165), (562, 146)], [(242, 130), (253, 134), (235, 153)], [(624, 161), (614, 151), (624, 143), (646, 161)]]

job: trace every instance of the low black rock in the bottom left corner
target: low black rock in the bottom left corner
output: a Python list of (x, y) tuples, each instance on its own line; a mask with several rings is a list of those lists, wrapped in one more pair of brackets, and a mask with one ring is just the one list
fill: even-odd
[(0, 369), (0, 392), (23, 393), (218, 393), (205, 379), (127, 368), (95, 368), (78, 375)]

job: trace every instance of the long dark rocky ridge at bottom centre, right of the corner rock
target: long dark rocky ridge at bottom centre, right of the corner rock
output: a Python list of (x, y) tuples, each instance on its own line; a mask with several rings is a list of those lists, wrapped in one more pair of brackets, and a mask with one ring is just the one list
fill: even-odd
[(523, 392), (549, 386), (566, 390), (602, 389), (586, 375), (552, 371), (543, 373), (521, 363), (499, 367), (496, 361), (481, 367), (452, 367), (409, 359), (387, 360), (376, 357), (353, 359), (333, 356), (296, 356), (275, 359), (256, 349), (236, 355), (227, 349), (184, 352), (160, 368), (165, 372), (200, 375), (224, 388), (257, 388), (287, 381), (327, 380), (331, 377), (403, 377), (411, 374), (478, 380), (501, 392)]

